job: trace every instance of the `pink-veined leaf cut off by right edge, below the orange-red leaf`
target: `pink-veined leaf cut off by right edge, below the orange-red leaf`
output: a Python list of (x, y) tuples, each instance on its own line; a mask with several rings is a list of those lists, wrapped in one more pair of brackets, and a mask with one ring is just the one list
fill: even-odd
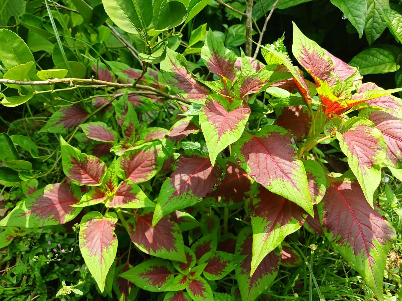
[(402, 168), (402, 118), (395, 117), (385, 110), (377, 111), (371, 108), (364, 109), (359, 116), (371, 120), (381, 132), (387, 145), (384, 163), (394, 168)]

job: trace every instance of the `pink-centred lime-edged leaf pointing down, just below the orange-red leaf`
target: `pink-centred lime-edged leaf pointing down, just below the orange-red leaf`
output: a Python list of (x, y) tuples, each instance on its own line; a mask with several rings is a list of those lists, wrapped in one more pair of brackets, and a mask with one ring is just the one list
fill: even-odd
[(381, 132), (372, 121), (352, 117), (340, 132), (336, 132), (336, 138), (367, 201), (373, 206), (374, 191), (381, 181), (380, 164), (384, 161), (387, 150)]

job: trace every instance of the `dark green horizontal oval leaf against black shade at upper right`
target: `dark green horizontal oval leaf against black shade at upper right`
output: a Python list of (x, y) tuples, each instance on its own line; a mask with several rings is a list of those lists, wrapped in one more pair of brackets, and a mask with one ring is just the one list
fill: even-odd
[(358, 67), (361, 75), (388, 73), (398, 70), (396, 58), (399, 54), (396, 46), (370, 47), (353, 57), (349, 65)]

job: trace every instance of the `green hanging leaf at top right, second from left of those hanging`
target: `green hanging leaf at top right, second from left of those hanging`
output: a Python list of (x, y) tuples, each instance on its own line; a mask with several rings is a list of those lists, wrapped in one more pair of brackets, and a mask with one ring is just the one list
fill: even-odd
[(381, 10), (389, 9), (390, 2), (389, 0), (366, 0), (366, 3), (367, 13), (364, 31), (366, 33), (367, 42), (371, 45), (387, 27)]

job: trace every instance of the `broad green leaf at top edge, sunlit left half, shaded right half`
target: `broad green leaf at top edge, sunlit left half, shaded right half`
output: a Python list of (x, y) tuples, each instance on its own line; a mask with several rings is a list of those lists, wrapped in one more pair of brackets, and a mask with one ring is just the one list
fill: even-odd
[(152, 22), (153, 8), (151, 0), (102, 0), (103, 7), (109, 18), (127, 33), (141, 33), (146, 29), (141, 24), (135, 6), (142, 12), (145, 26)]

